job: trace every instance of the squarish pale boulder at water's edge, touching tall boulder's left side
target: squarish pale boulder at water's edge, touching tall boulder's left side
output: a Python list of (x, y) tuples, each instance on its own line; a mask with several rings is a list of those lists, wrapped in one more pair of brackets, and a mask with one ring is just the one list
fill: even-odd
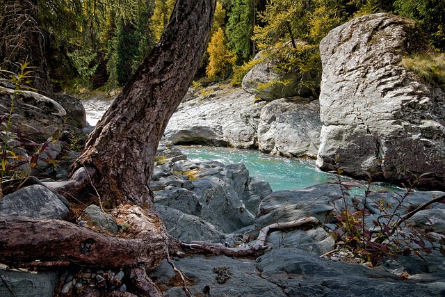
[(261, 152), (314, 158), (320, 145), (318, 101), (277, 99), (261, 109), (258, 147)]

